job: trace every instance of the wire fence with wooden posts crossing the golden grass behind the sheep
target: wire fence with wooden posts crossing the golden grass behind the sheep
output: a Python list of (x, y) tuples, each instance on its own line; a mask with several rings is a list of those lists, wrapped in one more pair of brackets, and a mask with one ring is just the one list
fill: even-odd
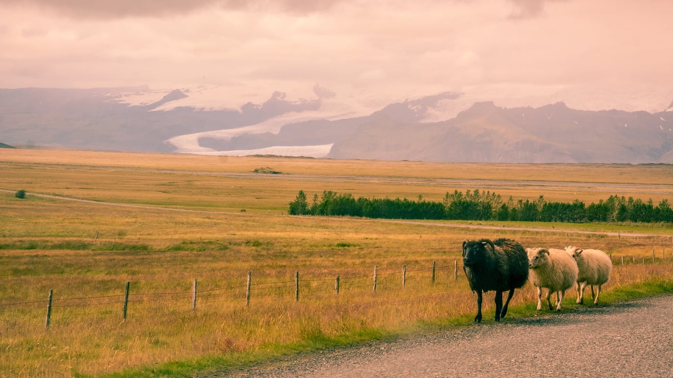
[[(667, 257), (666, 248), (662, 250), (661, 257), (656, 256), (656, 251), (652, 249), (652, 255), (650, 257), (639, 256), (636, 258), (633, 256), (613, 256), (610, 254), (610, 260), (612, 260), (613, 265), (625, 265), (625, 264), (637, 264), (642, 262), (655, 263), (661, 258), (665, 260)], [(670, 258), (670, 254), (668, 254)], [(235, 285), (229, 287), (219, 287), (213, 289), (199, 290), (197, 279), (192, 281), (192, 289), (190, 291), (174, 291), (174, 292), (163, 292), (163, 293), (133, 293), (130, 281), (125, 283), (124, 293), (118, 295), (102, 295), (96, 297), (72, 297), (72, 298), (55, 298), (53, 289), (48, 291), (48, 296), (46, 300), (35, 300), (35, 301), (22, 301), (16, 303), (0, 303), (0, 320), (6, 322), (5, 327), (10, 327), (15, 325), (16, 322), (20, 321), (22, 317), (11, 317), (7, 316), (8, 313), (21, 313), (26, 314), (27, 311), (36, 311), (42, 309), (44, 311), (46, 305), (46, 314), (44, 315), (44, 327), (49, 328), (52, 324), (52, 311), (55, 308), (67, 308), (67, 307), (79, 307), (79, 308), (91, 308), (91, 307), (104, 307), (108, 306), (107, 310), (100, 311), (100, 315), (112, 315), (116, 311), (121, 312), (121, 319), (125, 321), (129, 315), (129, 308), (134, 305), (134, 303), (152, 303), (158, 302), (159, 306), (156, 308), (162, 308), (167, 302), (180, 302), (188, 303), (190, 311), (197, 310), (197, 304), (199, 300), (211, 299), (210, 302), (217, 303), (218, 301), (228, 301), (229, 303), (239, 303), (240, 306), (250, 306), (251, 301), (254, 300), (255, 295), (260, 297), (264, 296), (273, 296), (277, 297), (287, 297), (288, 293), (293, 291), (294, 301), (299, 301), (302, 299), (302, 288), (304, 290), (309, 289), (307, 285), (316, 285), (320, 284), (322, 291), (332, 291), (332, 295), (335, 295), (337, 298), (339, 295), (343, 295), (343, 288), (346, 282), (364, 282), (365, 280), (371, 279), (371, 291), (376, 293), (378, 285), (380, 283), (380, 278), (383, 277), (393, 277), (399, 274), (399, 284), (398, 287), (404, 289), (407, 285), (407, 274), (408, 273), (425, 273), (428, 276), (423, 278), (429, 281), (430, 285), (433, 285), (437, 280), (437, 272), (444, 271), (446, 272), (446, 277), (453, 278), (454, 281), (458, 280), (459, 270), (462, 270), (462, 264), (458, 260), (454, 260), (453, 264), (448, 264), (445, 266), (437, 266), (437, 262), (433, 261), (432, 266), (427, 268), (417, 268), (413, 270), (408, 270), (406, 265), (403, 265), (401, 270), (390, 270), (386, 272), (381, 272), (378, 266), (374, 266), (374, 273), (361, 274), (361, 275), (351, 275), (351, 276), (341, 276), (336, 275), (332, 278), (312, 278), (312, 279), (300, 279), (299, 271), (295, 271), (294, 277), (292, 280), (283, 280), (283, 281), (272, 281), (272, 282), (254, 282), (254, 275), (252, 271), (248, 271), (246, 277), (246, 283), (244, 285)], [(417, 279), (421, 279), (417, 275)], [(304, 286), (302, 286), (304, 285)], [(333, 286), (332, 286), (333, 285)], [(389, 284), (390, 286), (390, 284)], [(325, 289), (326, 287), (332, 287), (332, 289)], [(389, 288), (390, 289), (390, 288)], [(112, 307), (118, 306), (115, 311)], [(90, 313), (87, 313), (87, 315)], [(34, 321), (34, 316), (25, 317), (24, 319), (30, 319)], [(33, 322), (34, 324), (34, 322)]]

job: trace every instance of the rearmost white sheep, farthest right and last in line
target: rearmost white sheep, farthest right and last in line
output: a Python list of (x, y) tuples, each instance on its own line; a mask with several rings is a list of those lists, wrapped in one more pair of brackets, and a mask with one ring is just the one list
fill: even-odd
[[(584, 303), (584, 288), (591, 287), (591, 297), (594, 299), (594, 305), (598, 304), (598, 295), (600, 288), (610, 279), (612, 271), (612, 260), (605, 252), (601, 250), (582, 250), (577, 247), (566, 247), (565, 251), (575, 259), (579, 274), (577, 275), (577, 303)], [(598, 287), (594, 295), (594, 285)]]

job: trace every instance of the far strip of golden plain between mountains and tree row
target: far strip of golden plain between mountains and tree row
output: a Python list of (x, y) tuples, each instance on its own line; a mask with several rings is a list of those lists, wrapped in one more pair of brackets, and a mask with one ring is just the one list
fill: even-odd
[[(422, 195), (438, 201), (446, 192), (479, 188), (514, 200), (544, 195), (552, 201), (598, 202), (618, 194), (655, 203), (673, 190), (673, 165), (427, 163), (22, 149), (0, 149), (0, 163), (5, 189), (23, 187), (81, 198), (96, 194), (100, 197), (93, 199), (131, 203), (149, 199), (178, 206), (215, 206), (212, 199), (219, 197), (220, 202), (231, 199), (227, 208), (236, 211), (242, 205), (285, 209), (299, 190), (310, 197), (332, 190), (355, 197)], [(252, 174), (259, 167), (283, 174)], [(28, 169), (32, 180), (24, 180)], [(88, 180), (92, 175), (100, 175), (100, 180)], [(242, 176), (259, 181), (241, 180)], [(118, 192), (107, 185), (110, 182)], [(275, 190), (263, 190), (271, 187)]]

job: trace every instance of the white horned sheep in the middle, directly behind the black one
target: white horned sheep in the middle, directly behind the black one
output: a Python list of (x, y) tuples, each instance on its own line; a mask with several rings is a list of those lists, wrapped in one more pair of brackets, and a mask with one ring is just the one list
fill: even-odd
[(530, 282), (538, 288), (538, 311), (542, 309), (542, 288), (549, 289), (547, 305), (552, 310), (551, 293), (556, 293), (556, 311), (561, 311), (565, 291), (577, 281), (577, 263), (564, 250), (526, 248)]

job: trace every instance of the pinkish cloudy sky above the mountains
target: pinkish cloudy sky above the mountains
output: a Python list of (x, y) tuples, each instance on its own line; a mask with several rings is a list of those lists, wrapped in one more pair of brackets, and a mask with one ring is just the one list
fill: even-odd
[(0, 0), (0, 88), (657, 108), (673, 101), (672, 20), (670, 0)]

